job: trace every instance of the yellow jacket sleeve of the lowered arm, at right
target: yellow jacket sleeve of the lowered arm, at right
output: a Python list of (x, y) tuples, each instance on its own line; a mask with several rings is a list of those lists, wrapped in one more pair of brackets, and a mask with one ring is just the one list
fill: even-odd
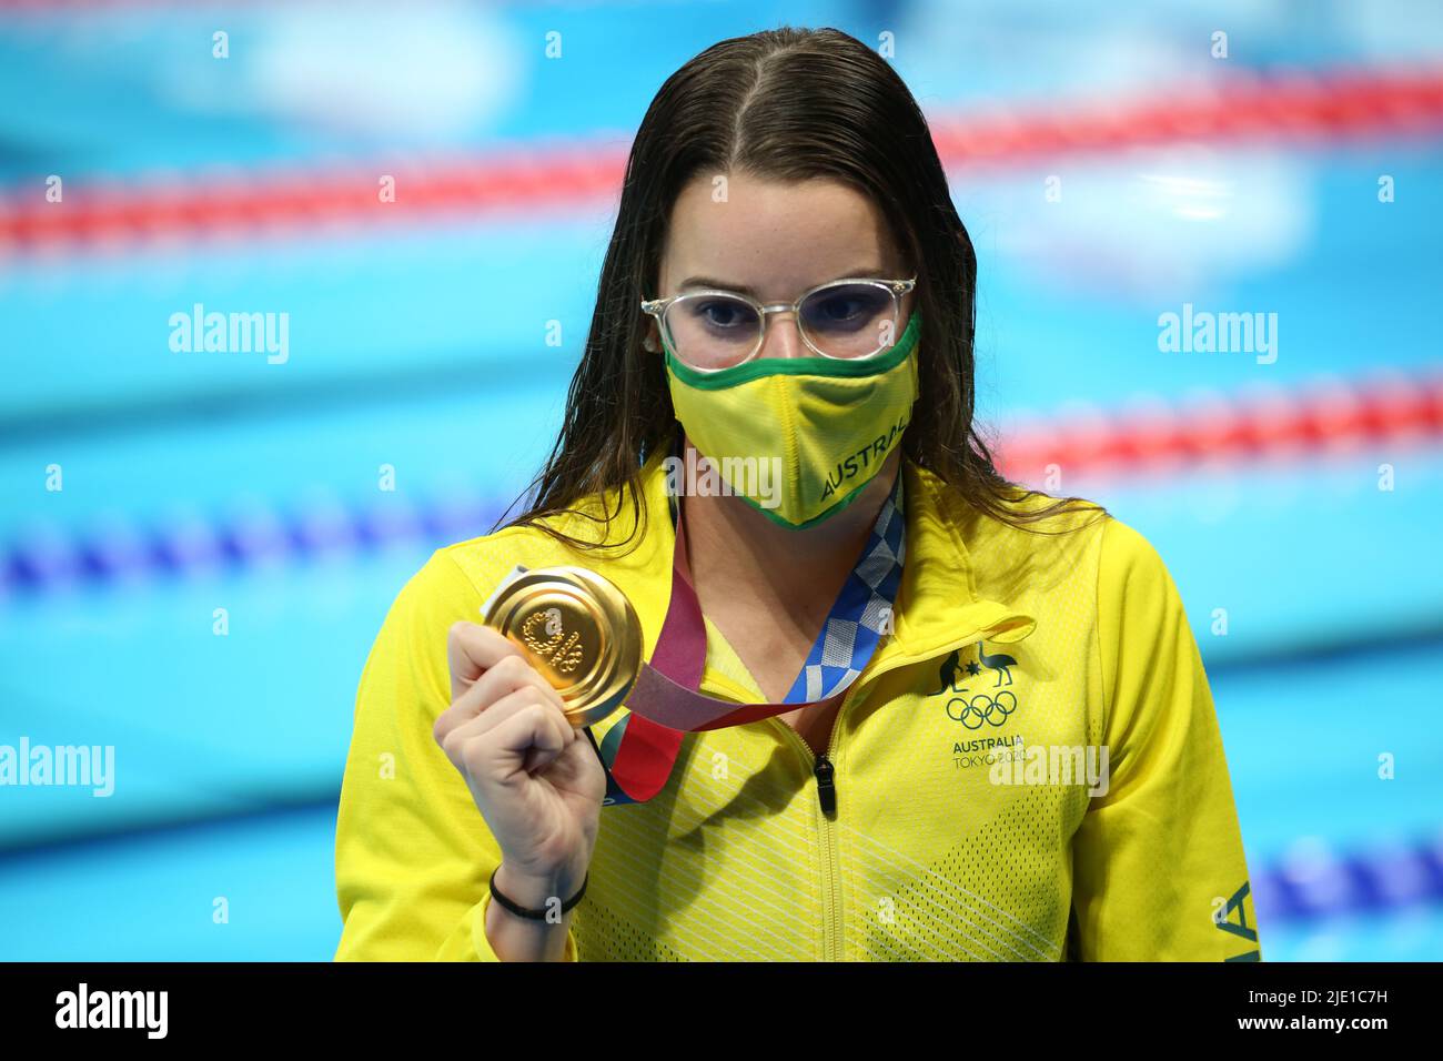
[(1074, 836), (1075, 957), (1257, 961), (1212, 691), (1162, 557), (1107, 520), (1098, 644), (1110, 780)]

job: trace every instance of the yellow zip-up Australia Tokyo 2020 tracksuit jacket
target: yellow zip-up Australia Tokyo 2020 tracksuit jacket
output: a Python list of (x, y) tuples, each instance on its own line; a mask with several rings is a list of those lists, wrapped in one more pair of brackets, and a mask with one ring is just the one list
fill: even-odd
[[(671, 585), (662, 455), (635, 551), (508, 527), (437, 550), (397, 596), (356, 697), (336, 960), (498, 960), (483, 925), (499, 849), (431, 738), (446, 632), (479, 622), (514, 564), (579, 563), (631, 598), (649, 654)], [(1258, 960), (1212, 696), (1162, 559), (1114, 518), (1014, 530), (902, 468), (893, 632), (833, 730), (835, 813), (779, 719), (690, 733), (655, 798), (602, 808), (566, 959)], [(711, 624), (707, 641), (701, 690), (765, 699)], [(1059, 772), (1089, 746), (1101, 774)]]

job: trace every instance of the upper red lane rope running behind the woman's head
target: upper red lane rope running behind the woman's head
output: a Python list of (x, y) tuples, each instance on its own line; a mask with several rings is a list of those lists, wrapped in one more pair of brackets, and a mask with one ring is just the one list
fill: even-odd
[[(1296, 146), (1356, 137), (1443, 137), (1443, 69), (1235, 75), (1163, 100), (1066, 104), (1048, 110), (931, 117), (949, 169), (1023, 165), (1190, 141)], [(491, 211), (561, 208), (613, 198), (625, 175), (623, 136), (528, 144), (429, 163), (348, 163), (291, 170), (43, 183), (0, 196), (0, 251), (59, 245), (254, 238), (329, 225), (417, 224)], [(63, 175), (59, 175), (63, 178)], [(395, 179), (384, 201), (381, 179)]]

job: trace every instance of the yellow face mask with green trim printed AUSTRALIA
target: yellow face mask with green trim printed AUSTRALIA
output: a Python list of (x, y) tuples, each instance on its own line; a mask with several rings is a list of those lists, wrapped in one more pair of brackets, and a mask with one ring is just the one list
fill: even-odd
[(900, 445), (918, 394), (919, 329), (913, 310), (876, 357), (759, 358), (714, 372), (677, 359), (668, 344), (671, 404), (727, 492), (782, 527), (811, 527), (854, 501)]

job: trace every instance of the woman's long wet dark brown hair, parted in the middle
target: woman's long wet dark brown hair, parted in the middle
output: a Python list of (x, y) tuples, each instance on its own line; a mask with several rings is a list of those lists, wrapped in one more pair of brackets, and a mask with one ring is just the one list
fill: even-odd
[[(840, 180), (889, 218), (903, 258), (915, 263), (922, 315), (921, 397), (903, 433), (905, 456), (980, 512), (1013, 527), (1042, 530), (1033, 524), (1062, 512), (1104, 514), (1082, 498), (1053, 499), (1007, 481), (978, 433), (977, 254), (912, 92), (885, 59), (840, 30), (781, 27), (711, 45), (667, 78), (651, 101), (632, 141), (560, 437), (511, 507), (527, 497), (530, 505), (506, 524), (504, 514), (498, 527), (532, 525), (577, 549), (613, 544), (606, 536), (596, 543), (547, 524), (548, 517), (574, 512), (587, 495), (615, 491), (615, 515), (631, 504), (633, 536), (645, 533), (641, 465), (672, 445), (678, 424), (662, 359), (642, 348), (651, 319), (639, 303), (658, 294), (667, 222), (681, 189), (698, 173), (727, 172)], [(609, 507), (584, 515), (609, 533)]]

